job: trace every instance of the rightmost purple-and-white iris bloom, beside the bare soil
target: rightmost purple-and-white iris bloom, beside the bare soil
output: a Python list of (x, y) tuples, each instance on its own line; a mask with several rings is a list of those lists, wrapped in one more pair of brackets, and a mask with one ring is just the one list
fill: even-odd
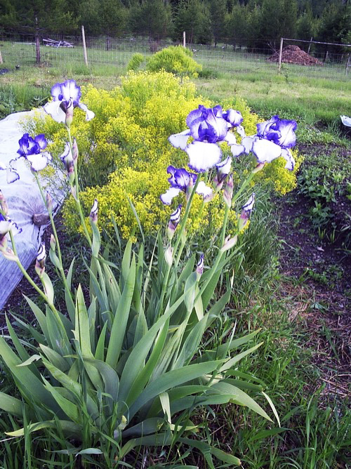
[(285, 168), (290, 171), (295, 160), (290, 148), (296, 144), (296, 121), (279, 119), (273, 116), (270, 120), (257, 124), (257, 133), (241, 140), (245, 153), (253, 152), (259, 164), (269, 163), (276, 158), (286, 159)]

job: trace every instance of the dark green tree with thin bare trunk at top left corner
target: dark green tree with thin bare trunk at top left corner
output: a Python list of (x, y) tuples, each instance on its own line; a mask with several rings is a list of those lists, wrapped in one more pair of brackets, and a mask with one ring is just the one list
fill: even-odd
[(11, 9), (0, 16), (4, 29), (34, 34), (37, 63), (40, 63), (40, 37), (43, 32), (56, 34), (77, 28), (77, 18), (69, 11), (66, 0), (14, 0)]

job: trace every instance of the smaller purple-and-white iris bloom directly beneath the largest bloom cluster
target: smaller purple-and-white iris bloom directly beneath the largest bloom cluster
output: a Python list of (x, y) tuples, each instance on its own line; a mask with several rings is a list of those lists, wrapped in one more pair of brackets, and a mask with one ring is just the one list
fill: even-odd
[[(173, 197), (176, 197), (180, 192), (187, 193), (190, 190), (197, 180), (197, 174), (188, 173), (186, 169), (177, 169), (174, 166), (168, 166), (167, 173), (171, 174), (171, 178), (168, 178), (171, 187), (161, 195), (160, 199), (165, 205), (171, 205)], [(204, 181), (199, 182), (196, 192), (204, 197), (205, 202), (213, 194), (211, 187), (206, 186)]]

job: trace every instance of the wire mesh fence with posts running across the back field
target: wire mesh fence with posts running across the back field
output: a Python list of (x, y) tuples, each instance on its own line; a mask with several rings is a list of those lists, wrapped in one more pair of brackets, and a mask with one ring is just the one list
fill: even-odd
[[(52, 41), (48, 41), (51, 39)], [(36, 62), (36, 46), (33, 36), (15, 34), (0, 37), (0, 51), (4, 60), (4, 67), (30, 66)], [(54, 43), (53, 41), (57, 41)], [(65, 44), (66, 43), (66, 44)], [(69, 44), (69, 46), (67, 46)], [(170, 41), (148, 41), (143, 38), (126, 37), (86, 37), (86, 47), (89, 66), (114, 67), (116, 72), (126, 70), (126, 66), (134, 53), (142, 53), (145, 58), (161, 48), (170, 46)], [(72, 46), (72, 47), (71, 47)], [(233, 47), (229, 44), (220, 46), (204, 46), (201, 44), (187, 44), (194, 52), (194, 59), (204, 69), (216, 72), (235, 74), (277, 74), (277, 51), (263, 44), (261, 48)], [(43, 37), (40, 41), (41, 65), (44, 67), (62, 67), (62, 65), (84, 64), (82, 39), (75, 37)], [(351, 75), (350, 55), (340, 47), (340, 53), (328, 55), (326, 53), (310, 52), (320, 61), (320, 65), (300, 65), (283, 63), (282, 74), (286, 77), (311, 77), (317, 79), (333, 79), (349, 81)]]

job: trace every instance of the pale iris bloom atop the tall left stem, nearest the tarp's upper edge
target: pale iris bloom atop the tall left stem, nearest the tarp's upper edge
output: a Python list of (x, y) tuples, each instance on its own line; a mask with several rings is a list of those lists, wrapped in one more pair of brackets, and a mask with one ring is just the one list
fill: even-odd
[(53, 100), (44, 106), (45, 112), (50, 114), (56, 122), (71, 124), (74, 107), (80, 107), (86, 113), (86, 120), (90, 121), (95, 117), (93, 111), (88, 110), (84, 103), (79, 103), (81, 98), (81, 87), (77, 86), (74, 80), (67, 80), (64, 83), (56, 83), (51, 88)]

